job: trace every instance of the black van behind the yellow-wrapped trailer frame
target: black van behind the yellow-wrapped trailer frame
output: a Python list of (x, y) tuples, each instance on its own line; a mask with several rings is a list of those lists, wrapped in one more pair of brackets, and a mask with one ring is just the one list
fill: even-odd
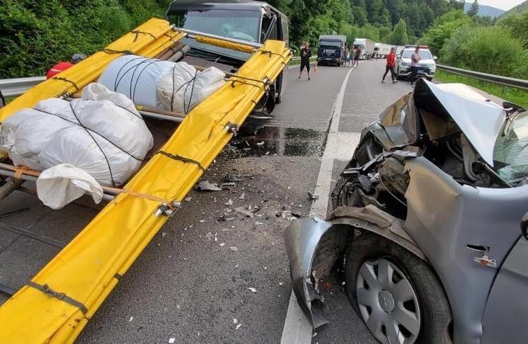
[[(282, 40), (289, 46), (288, 18), (283, 13), (261, 1), (252, 0), (175, 0), (168, 6), (165, 19), (178, 28), (210, 33), (236, 40), (263, 43)], [(202, 67), (218, 67), (236, 73), (251, 54), (222, 47), (206, 45), (185, 38), (183, 45), (190, 49), (184, 59)], [(252, 132), (269, 120), (275, 103), (281, 103), (285, 90), (284, 71), (277, 77), (246, 120), (243, 131)]]

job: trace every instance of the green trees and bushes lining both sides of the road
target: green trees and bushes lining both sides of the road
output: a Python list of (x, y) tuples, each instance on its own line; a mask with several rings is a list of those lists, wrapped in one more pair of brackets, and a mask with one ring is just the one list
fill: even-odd
[[(76, 52), (91, 54), (153, 16), (170, 0), (0, 0), (0, 79), (42, 75)], [(429, 45), (440, 62), (528, 78), (528, 11), (491, 20), (459, 0), (269, 0), (289, 17), (297, 48), (321, 34), (348, 42)], [(475, 4), (478, 6), (478, 3)]]

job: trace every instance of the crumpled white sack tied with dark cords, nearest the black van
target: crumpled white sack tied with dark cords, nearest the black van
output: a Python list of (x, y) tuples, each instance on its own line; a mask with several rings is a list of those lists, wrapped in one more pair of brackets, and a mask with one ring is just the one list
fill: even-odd
[(200, 72), (185, 62), (165, 71), (158, 82), (158, 99), (163, 108), (188, 113), (225, 84), (226, 74), (216, 67)]

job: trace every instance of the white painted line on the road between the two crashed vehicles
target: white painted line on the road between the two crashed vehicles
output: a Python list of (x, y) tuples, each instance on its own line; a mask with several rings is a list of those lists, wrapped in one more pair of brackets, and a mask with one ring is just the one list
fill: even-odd
[[(318, 195), (319, 198), (311, 205), (310, 214), (321, 218), (326, 217), (328, 208), (328, 199), (332, 182), (333, 162), (335, 159), (343, 161), (350, 160), (355, 146), (360, 139), (359, 133), (338, 132), (341, 109), (343, 108), (343, 99), (345, 98), (345, 90), (347, 88), (350, 74), (354, 69), (355, 67), (352, 67), (348, 71), (347, 75), (345, 76), (345, 80), (343, 80), (343, 84), (341, 85), (338, 97), (335, 99), (332, 122), (328, 132), (326, 147), (323, 152), (316, 188), (314, 190), (314, 194)], [(292, 291), (292, 296), (289, 297), (288, 311), (286, 314), (285, 325), (282, 330), (282, 338), (280, 343), (309, 344), (311, 343), (311, 333), (311, 324), (309, 323), (308, 319), (306, 319), (306, 316), (304, 316), (302, 313), (302, 310), (299, 308), (295, 294)]]

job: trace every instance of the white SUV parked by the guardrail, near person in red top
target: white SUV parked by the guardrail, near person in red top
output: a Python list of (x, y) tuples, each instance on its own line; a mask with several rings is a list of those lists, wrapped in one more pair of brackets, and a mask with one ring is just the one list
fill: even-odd
[[(411, 75), (411, 55), (415, 51), (415, 45), (406, 45), (396, 57), (396, 76), (398, 79), (406, 78)], [(418, 52), (420, 55), (420, 66), (418, 67), (418, 76), (422, 76), (431, 81), (436, 72), (437, 57), (433, 56), (427, 46), (420, 46)]]

